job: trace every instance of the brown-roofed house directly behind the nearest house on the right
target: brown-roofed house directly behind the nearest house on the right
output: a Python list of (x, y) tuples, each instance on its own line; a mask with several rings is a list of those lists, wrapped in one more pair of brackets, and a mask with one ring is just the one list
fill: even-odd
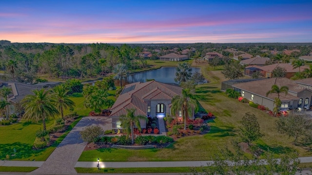
[[(284, 68), (286, 70), (286, 78), (291, 78), (296, 72), (299, 72), (299, 68), (293, 69), (293, 66), (288, 63), (276, 63), (273, 65), (267, 65), (267, 66), (247, 66), (244, 69), (244, 73), (246, 75), (252, 75), (253, 71), (261, 71), (264, 77), (271, 78), (272, 77), (272, 71), (277, 68)], [(255, 69), (256, 68), (256, 69)], [(309, 69), (307, 66), (301, 66), (300, 71), (303, 71), (304, 69)]]

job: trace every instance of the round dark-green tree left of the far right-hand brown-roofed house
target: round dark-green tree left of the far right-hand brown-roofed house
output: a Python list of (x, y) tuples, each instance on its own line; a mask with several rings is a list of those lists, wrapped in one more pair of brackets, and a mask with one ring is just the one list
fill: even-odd
[(222, 70), (221, 73), (224, 74), (225, 78), (229, 78), (230, 80), (234, 80), (243, 76), (242, 66), (239, 64), (239, 62), (225, 64), (224, 70)]

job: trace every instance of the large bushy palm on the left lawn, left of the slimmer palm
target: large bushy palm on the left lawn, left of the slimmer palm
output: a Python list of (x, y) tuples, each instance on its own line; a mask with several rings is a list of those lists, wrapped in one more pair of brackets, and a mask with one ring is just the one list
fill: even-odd
[(49, 90), (40, 89), (33, 90), (34, 95), (27, 95), (22, 100), (22, 106), (25, 113), (23, 118), (34, 122), (42, 121), (43, 131), (46, 131), (45, 120), (54, 118), (59, 114), (56, 101)]

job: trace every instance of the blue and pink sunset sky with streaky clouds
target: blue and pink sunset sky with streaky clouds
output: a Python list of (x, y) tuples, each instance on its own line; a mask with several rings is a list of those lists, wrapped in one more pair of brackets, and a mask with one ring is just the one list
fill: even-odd
[(1, 0), (0, 40), (312, 42), (312, 0)]

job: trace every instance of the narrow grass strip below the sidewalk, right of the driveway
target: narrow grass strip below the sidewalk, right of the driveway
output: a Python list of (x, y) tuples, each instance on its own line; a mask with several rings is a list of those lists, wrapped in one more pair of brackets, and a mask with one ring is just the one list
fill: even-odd
[[(187, 173), (189, 167), (166, 168), (75, 168), (77, 173)], [(200, 168), (196, 168), (200, 172)]]

